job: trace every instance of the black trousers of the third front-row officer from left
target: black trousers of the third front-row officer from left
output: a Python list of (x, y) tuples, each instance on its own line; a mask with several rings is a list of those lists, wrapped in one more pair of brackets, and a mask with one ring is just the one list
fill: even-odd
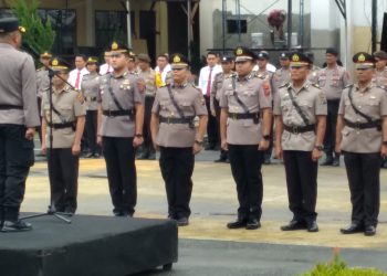
[(159, 164), (167, 192), (169, 216), (189, 217), (195, 167), (192, 148), (160, 147)]

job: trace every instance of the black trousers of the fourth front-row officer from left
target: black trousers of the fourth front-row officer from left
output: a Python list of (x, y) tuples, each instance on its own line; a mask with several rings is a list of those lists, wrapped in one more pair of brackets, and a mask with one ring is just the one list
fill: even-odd
[(263, 152), (258, 145), (229, 145), (229, 159), (238, 192), (238, 219), (260, 220), (262, 215), (263, 182), (261, 167)]

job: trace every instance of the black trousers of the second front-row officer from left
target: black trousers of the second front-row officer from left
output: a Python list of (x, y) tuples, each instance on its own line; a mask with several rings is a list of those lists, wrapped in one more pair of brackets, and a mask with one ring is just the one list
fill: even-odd
[(102, 149), (106, 162), (113, 212), (130, 215), (137, 203), (137, 173), (133, 137), (103, 137)]

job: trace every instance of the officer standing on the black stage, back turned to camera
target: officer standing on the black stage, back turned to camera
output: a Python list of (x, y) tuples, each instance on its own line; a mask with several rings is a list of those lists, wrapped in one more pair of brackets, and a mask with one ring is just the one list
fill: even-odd
[(0, 231), (31, 230), (19, 221), (25, 180), (33, 164), (33, 136), (40, 125), (33, 60), (18, 50), (25, 29), (0, 19)]

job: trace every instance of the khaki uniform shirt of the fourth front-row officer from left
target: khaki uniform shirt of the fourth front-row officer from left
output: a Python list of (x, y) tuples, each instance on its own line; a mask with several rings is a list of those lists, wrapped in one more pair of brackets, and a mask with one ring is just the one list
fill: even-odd
[[(233, 79), (236, 89), (233, 88)], [(220, 107), (228, 108), (229, 113), (244, 114), (234, 94), (249, 108), (249, 113), (259, 113), (272, 107), (272, 95), (263, 89), (263, 81), (254, 75), (239, 78), (237, 75), (224, 79), (223, 92), (220, 98)], [(227, 120), (227, 142), (231, 145), (258, 145), (262, 139), (261, 123), (254, 124), (253, 119)]]

